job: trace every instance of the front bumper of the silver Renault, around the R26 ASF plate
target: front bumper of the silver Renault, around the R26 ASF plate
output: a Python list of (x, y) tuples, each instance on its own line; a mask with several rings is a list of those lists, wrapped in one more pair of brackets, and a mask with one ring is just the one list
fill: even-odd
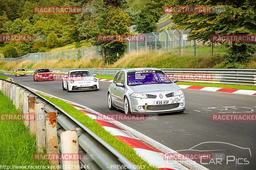
[[(153, 101), (170, 100), (170, 104), (153, 105)], [(179, 112), (185, 110), (184, 94), (163, 99), (145, 99), (130, 96), (130, 106), (132, 113), (166, 113)]]

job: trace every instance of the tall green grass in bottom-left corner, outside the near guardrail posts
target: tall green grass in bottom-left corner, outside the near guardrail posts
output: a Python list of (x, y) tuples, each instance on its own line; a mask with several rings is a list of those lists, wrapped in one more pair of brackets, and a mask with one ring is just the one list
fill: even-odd
[[(0, 115), (18, 114), (12, 101), (0, 92)], [(47, 161), (35, 161), (36, 137), (30, 136), (23, 121), (0, 121), (0, 165), (47, 166)], [(21, 168), (22, 169), (22, 168)]]

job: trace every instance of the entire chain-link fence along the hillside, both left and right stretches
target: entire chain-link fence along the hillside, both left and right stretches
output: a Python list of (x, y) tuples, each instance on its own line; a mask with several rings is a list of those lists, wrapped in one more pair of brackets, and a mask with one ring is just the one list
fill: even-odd
[[(159, 31), (155, 33), (145, 33), (133, 35), (127, 38), (126, 52), (141, 50), (164, 50), (175, 55), (207, 56), (223, 55), (226, 49), (220, 44), (209, 44), (198, 41), (188, 41), (189, 30)], [(140, 37), (140, 38), (138, 38)], [(41, 53), (28, 53), (17, 58), (1, 58), (2, 62), (23, 62), (23, 61), (54, 61), (54, 60), (80, 60), (84, 58), (101, 58), (100, 47), (88, 47), (61, 51), (50, 51)]]

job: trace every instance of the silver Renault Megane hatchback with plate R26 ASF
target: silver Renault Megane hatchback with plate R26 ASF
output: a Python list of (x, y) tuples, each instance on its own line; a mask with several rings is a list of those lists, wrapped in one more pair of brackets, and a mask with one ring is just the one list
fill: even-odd
[(126, 115), (184, 112), (184, 94), (176, 82), (156, 68), (120, 70), (108, 87), (108, 108), (122, 109)]

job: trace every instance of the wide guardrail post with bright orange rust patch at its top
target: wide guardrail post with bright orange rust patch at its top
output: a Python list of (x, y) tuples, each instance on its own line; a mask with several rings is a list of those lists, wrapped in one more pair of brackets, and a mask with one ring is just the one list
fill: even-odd
[[(46, 149), (48, 154), (58, 154), (58, 137), (57, 137), (57, 123), (56, 113), (49, 112), (44, 114), (45, 118), (45, 133), (46, 133)], [(50, 160), (51, 166), (58, 166), (58, 160)]]

